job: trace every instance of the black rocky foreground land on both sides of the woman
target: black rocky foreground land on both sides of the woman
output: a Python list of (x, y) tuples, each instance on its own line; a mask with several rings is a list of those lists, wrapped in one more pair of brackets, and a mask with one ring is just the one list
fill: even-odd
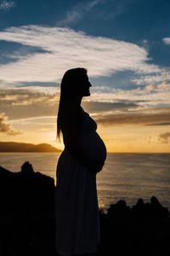
[[(17, 173), (0, 166), (0, 255), (56, 255), (54, 179), (26, 166)], [(131, 208), (118, 201), (100, 210), (100, 226), (97, 255), (161, 256), (169, 250), (169, 212), (154, 196)]]

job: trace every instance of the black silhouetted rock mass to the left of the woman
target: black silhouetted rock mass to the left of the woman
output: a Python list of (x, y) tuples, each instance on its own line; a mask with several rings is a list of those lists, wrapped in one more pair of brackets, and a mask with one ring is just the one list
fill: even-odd
[(54, 179), (0, 166), (0, 255), (53, 255)]

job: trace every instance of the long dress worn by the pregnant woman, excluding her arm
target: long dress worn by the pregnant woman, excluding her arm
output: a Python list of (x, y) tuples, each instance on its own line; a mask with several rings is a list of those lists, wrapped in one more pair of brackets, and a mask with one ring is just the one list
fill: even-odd
[[(106, 158), (97, 125), (83, 113), (79, 147), (94, 160)], [(96, 174), (78, 162), (65, 148), (57, 166), (55, 196), (55, 248), (61, 255), (96, 253), (99, 245), (99, 207)]]

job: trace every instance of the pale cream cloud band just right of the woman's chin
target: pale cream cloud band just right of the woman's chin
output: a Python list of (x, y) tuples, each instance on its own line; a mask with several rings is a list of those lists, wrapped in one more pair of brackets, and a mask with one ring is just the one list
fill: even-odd
[(138, 107), (148, 108), (156, 105), (170, 103), (170, 84), (148, 84), (144, 88), (134, 90), (116, 90), (102, 87), (95, 90), (86, 101), (90, 102), (134, 102)]

